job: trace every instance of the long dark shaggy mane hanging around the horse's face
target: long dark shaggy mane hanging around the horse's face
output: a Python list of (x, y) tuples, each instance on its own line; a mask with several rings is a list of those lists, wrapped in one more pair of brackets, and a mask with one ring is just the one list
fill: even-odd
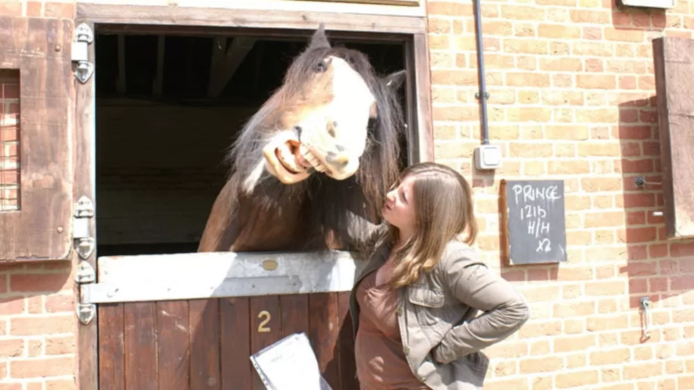
[[(259, 167), (264, 167), (264, 144), (276, 132), (289, 130), (278, 127), (282, 110), (296, 104), (289, 99), (301, 94), (301, 89), (313, 72), (312, 67), (326, 56), (346, 60), (376, 98), (378, 115), (369, 123), (366, 149), (357, 173), (346, 180), (313, 173), (306, 180), (286, 185), (263, 171), (252, 192), (244, 194), (244, 180), (257, 173)], [(231, 182), (232, 194), (238, 198), (235, 207), (241, 207), (239, 203), (244, 198), (251, 201), (254, 207), (269, 212), (279, 212), (282, 204), (287, 202), (308, 202), (310, 207), (305, 207), (305, 210), (310, 215), (302, 217), (305, 223), (335, 229), (343, 240), (355, 234), (366, 234), (358, 231), (361, 230), (359, 226), (362, 223), (379, 223), (385, 192), (398, 177), (399, 135), (403, 131), (403, 124), (403, 111), (396, 89), (389, 87), (384, 78), (375, 74), (364, 53), (344, 46), (311, 45), (294, 59), (285, 74), (283, 85), (246, 121), (230, 146), (226, 158), (230, 165), (227, 180)], [(248, 204), (243, 207), (248, 207)]]

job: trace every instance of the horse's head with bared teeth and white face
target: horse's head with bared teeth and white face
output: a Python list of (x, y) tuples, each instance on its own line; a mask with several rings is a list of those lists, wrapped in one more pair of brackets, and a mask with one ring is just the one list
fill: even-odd
[[(376, 77), (364, 53), (331, 46), (321, 24), (287, 69), (282, 85), (251, 117), (235, 143), (234, 165), (244, 176), (245, 191), (252, 192), (267, 177), (265, 173), (285, 185), (321, 173), (335, 180), (355, 176), (368, 158), (364, 154), (370, 143), (393, 146), (391, 138), (399, 125), (392, 120), (384, 123), (380, 116), (399, 109), (391, 91), (397, 90), (404, 75), (398, 71)], [(387, 127), (386, 145), (373, 135), (379, 124)], [(390, 164), (380, 167), (390, 168)]]

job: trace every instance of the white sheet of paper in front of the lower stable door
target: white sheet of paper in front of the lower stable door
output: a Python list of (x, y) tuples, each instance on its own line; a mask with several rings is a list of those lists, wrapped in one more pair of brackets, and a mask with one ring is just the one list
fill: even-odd
[(319, 370), (318, 360), (305, 333), (295, 333), (251, 356), (267, 389), (332, 390)]

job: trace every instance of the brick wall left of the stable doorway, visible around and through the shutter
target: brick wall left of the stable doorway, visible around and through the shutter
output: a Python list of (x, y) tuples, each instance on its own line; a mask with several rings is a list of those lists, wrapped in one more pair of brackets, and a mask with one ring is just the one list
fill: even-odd
[[(74, 3), (0, 1), (0, 15), (72, 17)], [(21, 205), (18, 86), (18, 71), (0, 69), (0, 213)], [(76, 389), (72, 268), (69, 261), (0, 264), (0, 390)]]

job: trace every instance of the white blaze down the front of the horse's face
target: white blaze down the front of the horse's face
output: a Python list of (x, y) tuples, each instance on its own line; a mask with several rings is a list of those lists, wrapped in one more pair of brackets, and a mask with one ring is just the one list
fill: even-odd
[(343, 59), (330, 58), (332, 100), (301, 123), (301, 143), (325, 166), (325, 174), (344, 180), (357, 171), (375, 97)]

